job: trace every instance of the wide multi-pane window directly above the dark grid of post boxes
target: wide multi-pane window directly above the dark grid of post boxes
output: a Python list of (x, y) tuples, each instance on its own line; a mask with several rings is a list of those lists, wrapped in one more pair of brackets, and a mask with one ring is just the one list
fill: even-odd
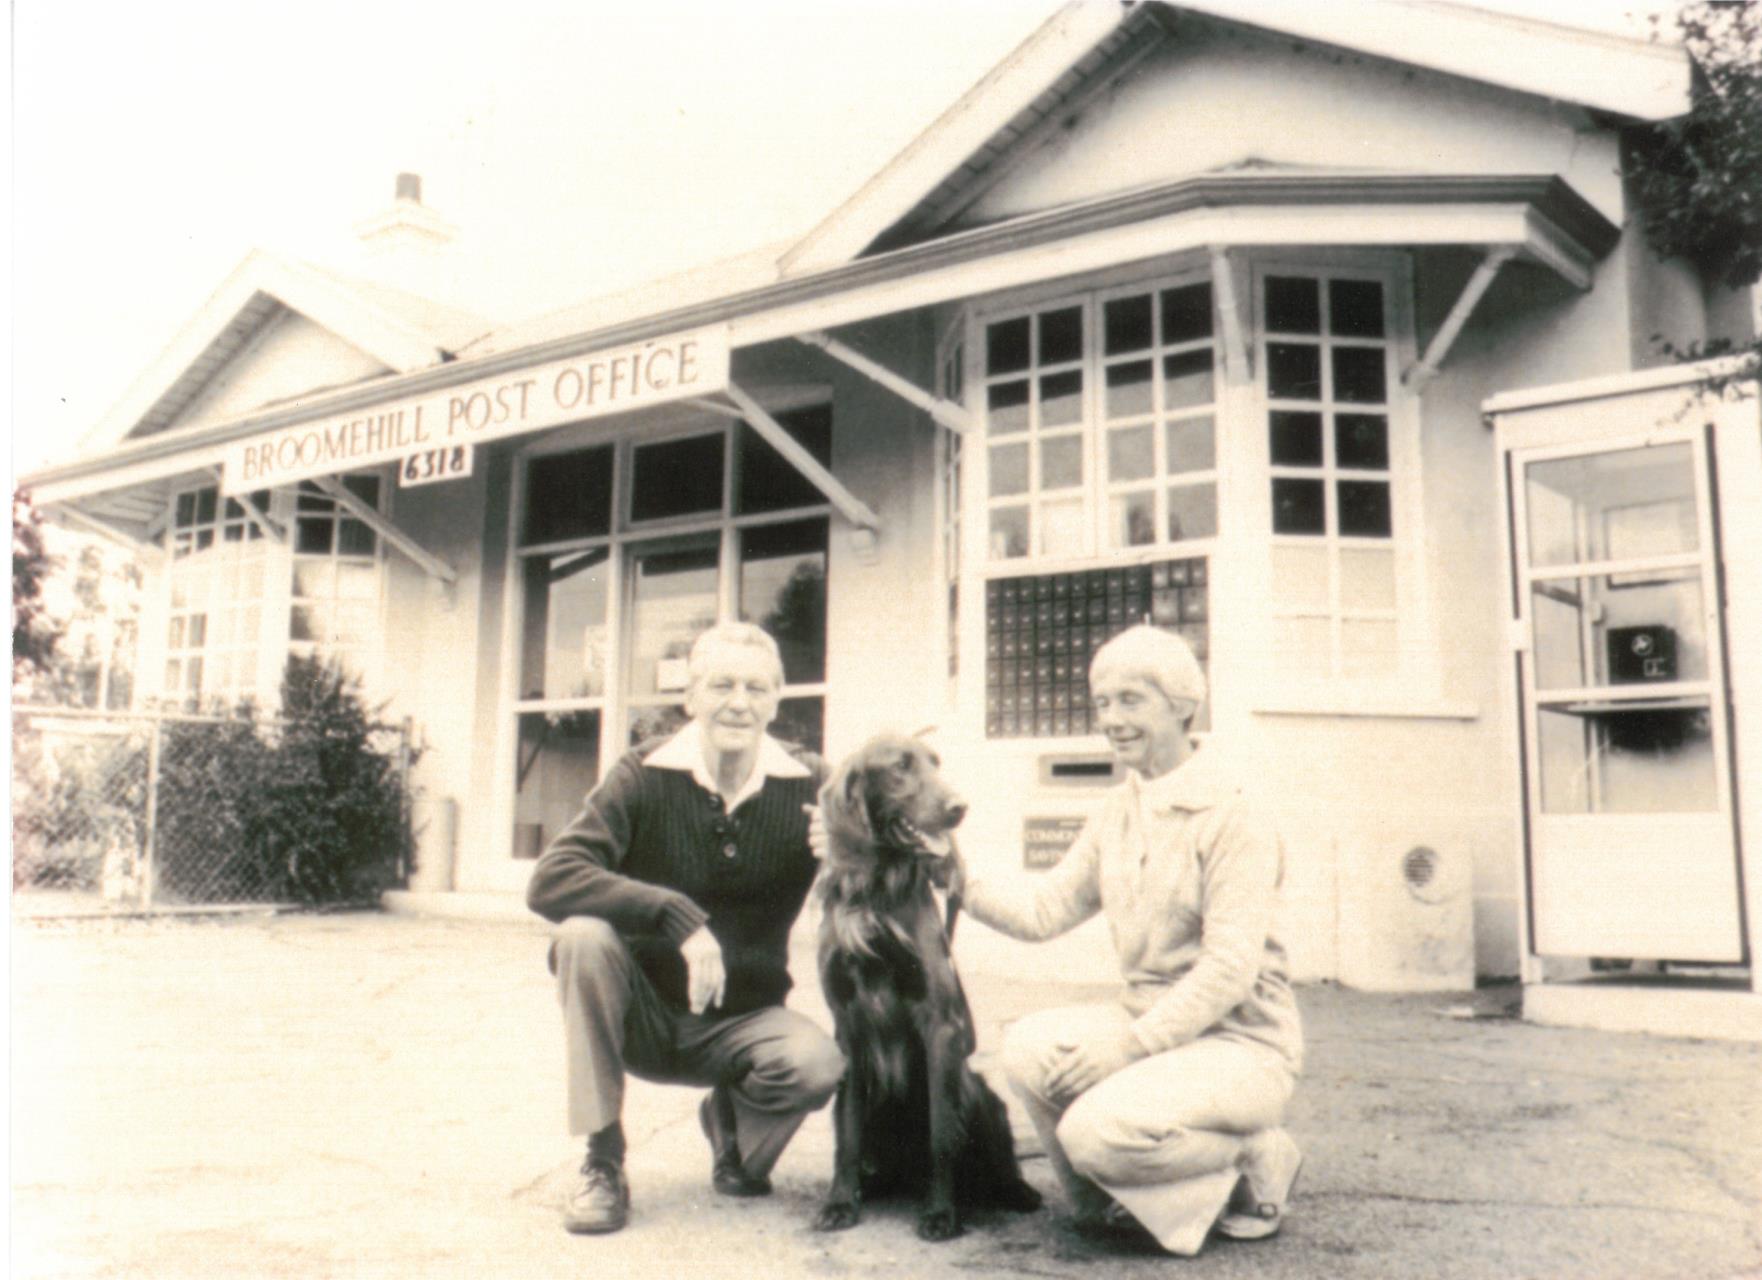
[(1218, 536), (1207, 280), (983, 324), (988, 559), (1078, 559)]

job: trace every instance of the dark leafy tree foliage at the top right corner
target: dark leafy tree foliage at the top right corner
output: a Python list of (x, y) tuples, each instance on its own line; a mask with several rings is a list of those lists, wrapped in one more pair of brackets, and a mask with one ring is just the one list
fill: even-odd
[(1693, 106), (1628, 134), (1633, 197), (1653, 249), (1736, 289), (1762, 277), (1762, 5), (1695, 0), (1676, 21)]

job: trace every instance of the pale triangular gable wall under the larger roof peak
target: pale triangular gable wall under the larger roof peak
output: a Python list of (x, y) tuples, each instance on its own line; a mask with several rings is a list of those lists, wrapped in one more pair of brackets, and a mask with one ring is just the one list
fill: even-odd
[(1244, 26), (1184, 21), (962, 224), (1244, 164), (1558, 173), (1610, 220), (1623, 217), (1614, 134), (1573, 108)]

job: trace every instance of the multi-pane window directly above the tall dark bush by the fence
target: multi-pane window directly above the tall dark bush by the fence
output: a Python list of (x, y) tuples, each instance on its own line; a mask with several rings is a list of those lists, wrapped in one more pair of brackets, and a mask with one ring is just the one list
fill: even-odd
[[(379, 506), (379, 476), (344, 476), (342, 483), (366, 506)], [(379, 619), (377, 534), (315, 485), (301, 485), (292, 536), (289, 652), (322, 654), (363, 673)]]

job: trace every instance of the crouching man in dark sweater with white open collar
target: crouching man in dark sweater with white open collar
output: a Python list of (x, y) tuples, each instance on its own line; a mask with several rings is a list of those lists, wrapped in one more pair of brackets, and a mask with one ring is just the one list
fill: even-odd
[(782, 663), (759, 628), (705, 631), (689, 677), (691, 721), (611, 767), (527, 889), (559, 924), (569, 1132), (587, 1134), (564, 1204), (576, 1232), (629, 1217), (626, 1070), (710, 1086), (698, 1114), (724, 1195), (770, 1192), (777, 1157), (844, 1074), (837, 1044), (782, 1007), (789, 926), (818, 871), (803, 806), (825, 765), (765, 733)]

